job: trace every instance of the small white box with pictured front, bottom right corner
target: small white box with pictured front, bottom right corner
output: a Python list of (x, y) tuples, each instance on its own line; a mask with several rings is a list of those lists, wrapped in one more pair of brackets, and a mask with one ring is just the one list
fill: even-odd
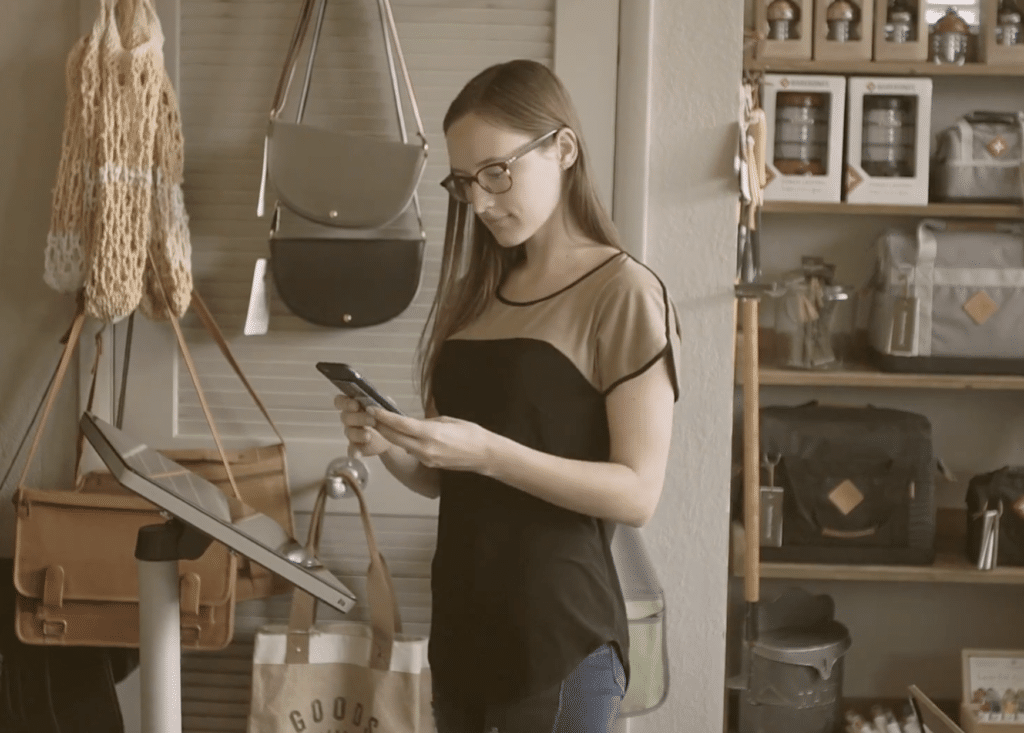
[(964, 649), (965, 733), (1024, 733), (1024, 649)]

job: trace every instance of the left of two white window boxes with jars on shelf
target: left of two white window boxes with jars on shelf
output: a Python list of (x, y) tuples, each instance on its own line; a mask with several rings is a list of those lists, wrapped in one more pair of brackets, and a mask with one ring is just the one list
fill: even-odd
[(766, 74), (765, 201), (839, 202), (846, 78)]

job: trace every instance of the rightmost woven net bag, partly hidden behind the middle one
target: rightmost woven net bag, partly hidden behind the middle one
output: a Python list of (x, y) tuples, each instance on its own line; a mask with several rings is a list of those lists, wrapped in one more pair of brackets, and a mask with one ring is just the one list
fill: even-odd
[(191, 242), (181, 184), (184, 140), (170, 78), (163, 74), (153, 152), (153, 205), (148, 264), (142, 278), (142, 312), (154, 320), (180, 318), (191, 301)]

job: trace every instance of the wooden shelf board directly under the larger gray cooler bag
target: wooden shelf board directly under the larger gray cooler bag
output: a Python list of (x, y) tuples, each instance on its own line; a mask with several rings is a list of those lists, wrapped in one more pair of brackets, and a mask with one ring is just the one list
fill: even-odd
[[(741, 381), (737, 373), (737, 383)], [(762, 366), (759, 381), (776, 387), (1024, 390), (1024, 377), (1013, 375), (894, 374), (865, 365), (829, 372)]]

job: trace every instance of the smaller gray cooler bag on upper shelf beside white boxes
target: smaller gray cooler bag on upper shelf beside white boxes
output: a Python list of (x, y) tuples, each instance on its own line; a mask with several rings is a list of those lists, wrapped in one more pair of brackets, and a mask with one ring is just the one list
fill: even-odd
[(1024, 113), (973, 112), (939, 133), (933, 201), (1019, 202)]

